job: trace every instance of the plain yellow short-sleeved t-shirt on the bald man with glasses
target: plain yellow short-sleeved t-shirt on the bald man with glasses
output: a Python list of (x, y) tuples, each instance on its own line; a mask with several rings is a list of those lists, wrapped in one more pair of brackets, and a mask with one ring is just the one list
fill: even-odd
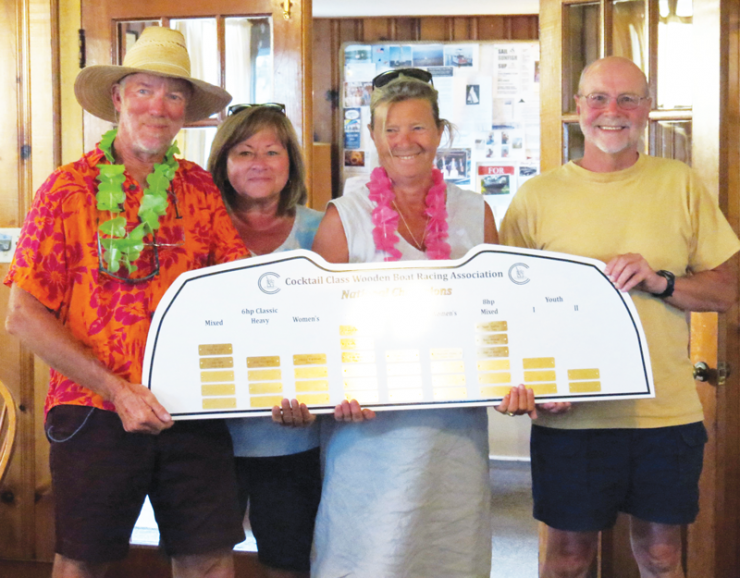
[[(500, 235), (506, 245), (604, 262), (639, 253), (654, 270), (677, 277), (714, 269), (740, 249), (716, 200), (688, 166), (645, 155), (623, 171), (594, 173), (570, 162), (529, 180), (506, 212)], [(641, 291), (630, 295), (648, 342), (655, 398), (577, 403), (567, 414), (542, 415), (537, 425), (651, 428), (703, 419), (686, 313)]]

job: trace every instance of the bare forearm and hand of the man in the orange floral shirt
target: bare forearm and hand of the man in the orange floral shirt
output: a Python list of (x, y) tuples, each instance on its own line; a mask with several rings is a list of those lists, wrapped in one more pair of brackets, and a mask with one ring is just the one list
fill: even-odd
[(5, 328), (51, 367), (111, 401), (126, 431), (159, 433), (174, 424), (148, 388), (109, 371), (38, 299), (15, 283)]

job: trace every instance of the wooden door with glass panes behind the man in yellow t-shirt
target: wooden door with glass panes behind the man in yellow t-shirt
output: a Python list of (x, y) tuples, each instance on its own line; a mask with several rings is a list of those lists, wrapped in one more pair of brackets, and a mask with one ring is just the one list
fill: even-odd
[[(732, 0), (694, 0), (693, 6), (684, 1), (541, 0), (542, 169), (581, 156), (583, 138), (573, 94), (583, 66), (601, 56), (626, 56), (647, 74), (653, 98), (646, 152), (692, 164), (717, 193), (737, 232), (739, 10)], [(672, 42), (666, 32), (669, 26), (688, 28), (681, 28), (683, 39), (673, 41), (666, 51)], [(677, 85), (666, 81), (672, 71), (680, 77), (679, 84), (683, 81), (678, 94), (671, 94)], [(701, 512), (686, 529), (684, 563), (688, 578), (733, 576), (740, 567), (737, 306), (721, 316), (692, 314), (691, 341), (692, 361), (705, 361), (712, 368), (708, 381), (697, 382), (710, 441), (701, 480)], [(718, 379), (718, 364), (731, 369), (729, 377)], [(625, 520), (602, 536), (592, 575), (639, 576)]]

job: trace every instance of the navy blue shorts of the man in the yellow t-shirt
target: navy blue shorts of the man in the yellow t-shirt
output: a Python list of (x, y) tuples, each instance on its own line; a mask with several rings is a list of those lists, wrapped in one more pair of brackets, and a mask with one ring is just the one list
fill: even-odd
[(604, 530), (617, 512), (690, 524), (699, 512), (702, 422), (651, 429), (532, 426), (534, 517), (572, 532)]

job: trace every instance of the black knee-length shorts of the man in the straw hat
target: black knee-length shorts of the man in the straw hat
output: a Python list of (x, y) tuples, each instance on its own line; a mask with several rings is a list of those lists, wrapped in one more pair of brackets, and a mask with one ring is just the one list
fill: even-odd
[(124, 558), (149, 495), (168, 556), (244, 540), (231, 437), (219, 420), (127, 433), (116, 413), (61, 405), (46, 419), (56, 552), (91, 564)]

